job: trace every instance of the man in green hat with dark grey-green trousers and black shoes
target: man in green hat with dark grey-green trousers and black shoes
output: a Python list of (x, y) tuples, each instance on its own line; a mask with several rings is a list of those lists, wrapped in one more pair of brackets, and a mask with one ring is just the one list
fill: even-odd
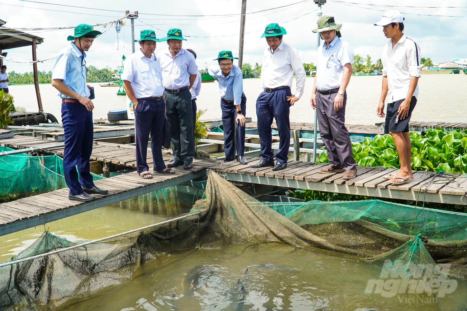
[(183, 164), (184, 169), (193, 166), (195, 141), (193, 137), (193, 111), (190, 89), (195, 83), (198, 68), (193, 54), (182, 48), (186, 40), (178, 28), (169, 29), (163, 39), (169, 46), (157, 54), (161, 63), (162, 83), (165, 89), (167, 119), (172, 126), (172, 150), (175, 160), (168, 167)]

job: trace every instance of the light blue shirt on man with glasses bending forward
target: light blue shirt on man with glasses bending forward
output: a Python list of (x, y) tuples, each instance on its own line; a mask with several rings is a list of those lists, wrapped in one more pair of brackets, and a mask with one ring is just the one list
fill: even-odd
[(241, 104), (243, 94), (243, 75), (238, 66), (232, 65), (228, 76), (220, 69), (219, 65), (213, 65), (208, 69), (209, 74), (219, 82), (220, 97), (225, 100), (233, 100), (234, 105)]

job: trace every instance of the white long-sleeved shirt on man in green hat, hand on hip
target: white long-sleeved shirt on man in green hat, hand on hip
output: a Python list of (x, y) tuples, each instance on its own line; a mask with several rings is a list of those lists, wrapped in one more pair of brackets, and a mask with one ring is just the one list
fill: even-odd
[(261, 68), (260, 93), (264, 92), (264, 88), (292, 86), (294, 73), (297, 82), (295, 96), (300, 98), (305, 87), (306, 73), (297, 49), (284, 41), (274, 53), (271, 53), (271, 48), (266, 48)]

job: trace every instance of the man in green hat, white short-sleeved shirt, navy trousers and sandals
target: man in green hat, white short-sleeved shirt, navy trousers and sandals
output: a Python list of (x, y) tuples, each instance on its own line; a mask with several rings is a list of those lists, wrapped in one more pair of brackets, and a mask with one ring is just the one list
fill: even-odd
[(154, 55), (156, 39), (154, 30), (142, 30), (140, 49), (127, 58), (121, 78), (123, 88), (134, 106), (134, 140), (136, 142), (136, 171), (143, 179), (152, 178), (146, 161), (149, 133), (154, 162), (153, 171), (172, 174), (162, 159), (165, 104), (163, 100), (162, 70)]

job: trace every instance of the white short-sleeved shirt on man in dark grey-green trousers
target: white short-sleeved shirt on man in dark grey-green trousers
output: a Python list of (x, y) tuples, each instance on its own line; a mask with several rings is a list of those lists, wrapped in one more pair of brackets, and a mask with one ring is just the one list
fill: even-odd
[(170, 54), (169, 48), (160, 51), (157, 59), (161, 63), (162, 84), (169, 90), (177, 90), (190, 86), (190, 75), (196, 75), (195, 56), (181, 48), (175, 58)]

